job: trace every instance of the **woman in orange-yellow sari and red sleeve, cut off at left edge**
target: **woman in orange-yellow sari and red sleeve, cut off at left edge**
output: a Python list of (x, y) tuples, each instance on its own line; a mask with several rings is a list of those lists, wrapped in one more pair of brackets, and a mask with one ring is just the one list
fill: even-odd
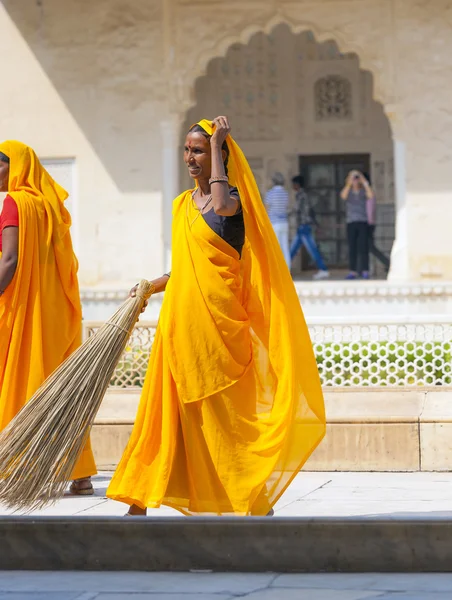
[[(80, 345), (82, 311), (67, 192), (16, 141), (0, 144), (0, 191), (1, 430)], [(71, 492), (91, 495), (95, 473), (88, 443)]]

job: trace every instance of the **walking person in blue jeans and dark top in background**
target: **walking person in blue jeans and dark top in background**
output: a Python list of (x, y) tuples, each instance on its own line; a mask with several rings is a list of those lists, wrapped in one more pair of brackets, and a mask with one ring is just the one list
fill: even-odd
[(310, 203), (309, 196), (304, 189), (304, 179), (301, 175), (292, 178), (292, 186), (295, 190), (295, 214), (297, 217), (297, 233), (290, 247), (290, 258), (294, 259), (300, 248), (304, 245), (312, 260), (317, 265), (317, 273), (313, 279), (326, 279), (329, 277), (328, 269), (323, 262), (322, 255), (317, 247), (312, 234), (312, 225), (317, 224), (314, 209)]

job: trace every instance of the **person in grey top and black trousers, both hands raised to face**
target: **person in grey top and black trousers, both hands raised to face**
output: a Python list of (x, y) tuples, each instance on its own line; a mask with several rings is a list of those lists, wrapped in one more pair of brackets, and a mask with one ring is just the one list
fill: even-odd
[(369, 279), (369, 230), (367, 201), (374, 197), (369, 182), (359, 171), (350, 171), (341, 192), (346, 202), (347, 239), (350, 272), (346, 279), (359, 275)]

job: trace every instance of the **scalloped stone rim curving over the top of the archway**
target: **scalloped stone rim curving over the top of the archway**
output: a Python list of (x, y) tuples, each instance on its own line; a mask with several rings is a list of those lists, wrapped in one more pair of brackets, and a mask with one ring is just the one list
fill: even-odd
[[(256, 33), (269, 35), (278, 25), (287, 25), (294, 35), (310, 31), (314, 35), (317, 43), (334, 41), (337, 43), (337, 47), (341, 53), (356, 54), (359, 61), (359, 68), (361, 70), (369, 71), (373, 76), (374, 100), (383, 106), (385, 113), (392, 110), (394, 105), (393, 94), (389, 89), (386, 89), (389, 86), (385, 86), (383, 83), (384, 60), (380, 61), (379, 65), (376, 65), (375, 61), (366, 54), (366, 50), (362, 45), (353, 41), (353, 39), (346, 37), (340, 30), (332, 31), (330, 29), (322, 29), (316, 23), (311, 21), (295, 22), (293, 19), (289, 19), (280, 13), (277, 16), (272, 17), (265, 24), (259, 25), (254, 23), (247, 25), (241, 31), (234, 34), (227, 33), (220, 39), (217, 39), (215, 43), (210, 44), (210, 46), (203, 47), (194, 57), (194, 68), (187, 70), (183, 78), (176, 84), (178, 87), (182, 85), (185, 89), (185, 93), (175, 94), (175, 97), (178, 98), (178, 112), (187, 112), (196, 105), (195, 84), (197, 79), (207, 74), (207, 68), (211, 60), (215, 58), (225, 58), (229, 48), (234, 44), (246, 46), (252, 36)], [(181, 89), (179, 91), (182, 92)]]

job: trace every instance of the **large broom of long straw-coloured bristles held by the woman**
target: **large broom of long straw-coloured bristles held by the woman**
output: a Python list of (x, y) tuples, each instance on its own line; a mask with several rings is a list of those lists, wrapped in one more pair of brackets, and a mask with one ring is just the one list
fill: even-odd
[(141, 281), (111, 319), (42, 384), (0, 433), (0, 502), (31, 511), (64, 495), (145, 301)]

